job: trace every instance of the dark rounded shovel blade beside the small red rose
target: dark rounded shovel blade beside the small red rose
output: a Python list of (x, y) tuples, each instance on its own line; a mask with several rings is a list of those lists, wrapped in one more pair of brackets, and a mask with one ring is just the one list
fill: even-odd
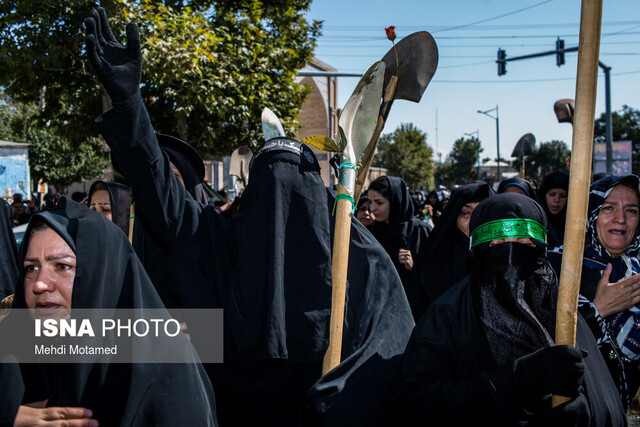
[[(396, 52), (398, 61), (396, 62)], [(402, 40), (382, 58), (387, 65), (384, 87), (391, 76), (398, 73), (398, 87), (394, 99), (420, 102), (422, 94), (438, 67), (438, 46), (427, 31), (413, 33)]]

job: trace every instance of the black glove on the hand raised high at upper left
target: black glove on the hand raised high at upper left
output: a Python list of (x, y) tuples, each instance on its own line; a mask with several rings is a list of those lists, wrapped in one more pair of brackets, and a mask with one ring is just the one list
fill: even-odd
[(127, 24), (127, 47), (122, 46), (111, 32), (107, 14), (98, 7), (84, 20), (87, 28), (87, 55), (100, 82), (117, 111), (133, 107), (140, 99), (142, 52), (140, 34), (133, 22)]

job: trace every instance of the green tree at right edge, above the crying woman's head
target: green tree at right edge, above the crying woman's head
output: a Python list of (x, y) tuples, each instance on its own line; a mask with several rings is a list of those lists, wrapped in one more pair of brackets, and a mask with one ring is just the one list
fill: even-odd
[[(602, 114), (595, 122), (594, 137), (596, 142), (605, 142), (606, 117)], [(634, 174), (640, 173), (640, 111), (622, 106), (622, 111), (611, 114), (614, 141), (631, 141), (632, 169)]]

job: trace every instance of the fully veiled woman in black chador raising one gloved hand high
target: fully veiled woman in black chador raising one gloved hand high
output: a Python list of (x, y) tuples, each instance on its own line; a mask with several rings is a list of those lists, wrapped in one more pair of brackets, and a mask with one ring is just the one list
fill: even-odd
[[(334, 199), (311, 150), (290, 138), (267, 141), (253, 156), (239, 210), (221, 217), (185, 191), (160, 151), (140, 98), (135, 24), (124, 48), (104, 10), (85, 23), (89, 58), (114, 106), (98, 125), (140, 215), (176, 254), (182, 306), (225, 309), (224, 363), (205, 367), (220, 425), (300, 425), (303, 407), (304, 425), (382, 422), (413, 321), (393, 264), (354, 218), (343, 362), (320, 378)], [(208, 339), (206, 325), (187, 327), (194, 343)]]

